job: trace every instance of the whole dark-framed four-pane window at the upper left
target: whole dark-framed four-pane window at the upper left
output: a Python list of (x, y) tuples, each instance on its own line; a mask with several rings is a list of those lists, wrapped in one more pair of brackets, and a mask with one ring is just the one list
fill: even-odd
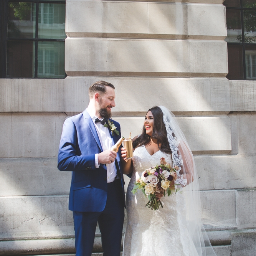
[(0, 78), (65, 78), (65, 1), (2, 0)]

